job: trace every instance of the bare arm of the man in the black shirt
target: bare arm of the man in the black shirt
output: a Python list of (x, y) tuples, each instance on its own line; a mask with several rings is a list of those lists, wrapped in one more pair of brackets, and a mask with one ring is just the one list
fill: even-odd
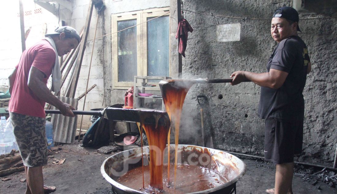
[(277, 69), (270, 69), (270, 71), (266, 73), (236, 71), (231, 75), (231, 77), (234, 77), (231, 84), (234, 86), (248, 79), (259, 86), (278, 89), (283, 85), (287, 76), (287, 72)]

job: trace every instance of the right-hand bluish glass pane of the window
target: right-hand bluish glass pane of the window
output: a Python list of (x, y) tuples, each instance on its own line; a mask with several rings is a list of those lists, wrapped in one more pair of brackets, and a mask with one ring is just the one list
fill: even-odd
[(168, 19), (165, 16), (147, 22), (147, 76), (169, 76)]

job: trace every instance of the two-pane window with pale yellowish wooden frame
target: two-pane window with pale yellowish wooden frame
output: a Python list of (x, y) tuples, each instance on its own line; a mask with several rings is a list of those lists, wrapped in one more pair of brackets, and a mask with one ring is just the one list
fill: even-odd
[(134, 76), (170, 76), (169, 11), (165, 7), (112, 15), (114, 89), (133, 86)]

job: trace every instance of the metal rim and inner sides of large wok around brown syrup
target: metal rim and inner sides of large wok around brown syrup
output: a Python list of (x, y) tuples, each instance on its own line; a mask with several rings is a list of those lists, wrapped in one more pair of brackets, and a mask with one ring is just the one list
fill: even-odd
[[(174, 150), (174, 145), (171, 145), (172, 150)], [(144, 147), (144, 154), (149, 156), (149, 148)], [(194, 152), (197, 150), (198, 152)], [(198, 157), (205, 157), (204, 154), (210, 156), (210, 162), (205, 166), (198, 163), (197, 165), (203, 166), (205, 168), (214, 170), (221, 175), (225, 176), (229, 182), (214, 187), (212, 189), (198, 191), (194, 193), (233, 193), (236, 190), (236, 182), (246, 173), (246, 165), (236, 156), (211, 148), (204, 148), (191, 145), (178, 145), (178, 161), (179, 163), (189, 164), (187, 159), (188, 155), (194, 153), (201, 153)], [(141, 157), (142, 150), (141, 148), (136, 148), (132, 150), (126, 150), (117, 154), (114, 154), (107, 158), (101, 165), (101, 173), (106, 181), (112, 185), (112, 189), (115, 193), (124, 194), (124, 193), (143, 193), (131, 188), (128, 188), (117, 182), (117, 179), (126, 173), (128, 170), (141, 166)], [(166, 156), (167, 158), (167, 152)], [(174, 158), (174, 157), (173, 157)], [(173, 160), (172, 158), (172, 160)], [(145, 160), (146, 161), (146, 160)], [(167, 161), (167, 159), (164, 161)], [(167, 162), (166, 162), (167, 163)], [(195, 164), (195, 163), (194, 163)]]

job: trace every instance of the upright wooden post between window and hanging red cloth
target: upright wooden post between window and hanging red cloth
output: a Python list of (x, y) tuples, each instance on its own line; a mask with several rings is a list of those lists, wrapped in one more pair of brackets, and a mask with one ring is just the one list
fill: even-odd
[(176, 39), (178, 23), (181, 20), (181, 0), (170, 0), (170, 77), (178, 78), (182, 74), (182, 56), (178, 52)]

